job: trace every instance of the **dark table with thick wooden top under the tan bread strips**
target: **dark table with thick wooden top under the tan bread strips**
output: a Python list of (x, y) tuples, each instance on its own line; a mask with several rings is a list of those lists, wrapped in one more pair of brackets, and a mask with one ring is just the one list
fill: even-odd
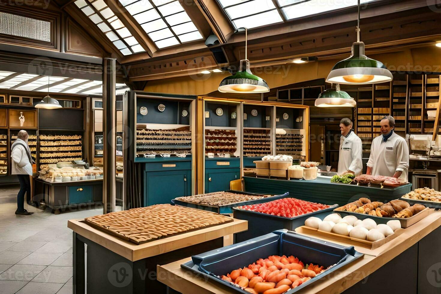
[[(157, 282), (157, 264), (233, 243), (233, 234), (246, 231), (246, 220), (233, 220), (196, 231), (136, 245), (91, 227), (83, 219), (69, 220), (73, 231), (73, 293), (164, 293)], [(87, 255), (85, 263), (85, 244)], [(85, 268), (87, 270), (85, 270)]]

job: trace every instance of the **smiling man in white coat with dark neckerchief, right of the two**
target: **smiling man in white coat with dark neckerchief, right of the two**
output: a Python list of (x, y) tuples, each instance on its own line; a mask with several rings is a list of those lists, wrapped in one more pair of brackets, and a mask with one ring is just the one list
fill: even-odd
[(407, 182), (409, 147), (393, 129), (395, 119), (386, 115), (380, 122), (381, 136), (372, 140), (367, 175), (385, 175)]

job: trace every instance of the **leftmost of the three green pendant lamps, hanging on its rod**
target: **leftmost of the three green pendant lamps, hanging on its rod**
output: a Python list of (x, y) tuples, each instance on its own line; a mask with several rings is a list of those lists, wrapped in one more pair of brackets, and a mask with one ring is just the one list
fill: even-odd
[(224, 78), (219, 85), (222, 93), (265, 93), (269, 92), (268, 84), (250, 71), (250, 60), (247, 59), (247, 28), (245, 29), (245, 59), (240, 60), (239, 71)]

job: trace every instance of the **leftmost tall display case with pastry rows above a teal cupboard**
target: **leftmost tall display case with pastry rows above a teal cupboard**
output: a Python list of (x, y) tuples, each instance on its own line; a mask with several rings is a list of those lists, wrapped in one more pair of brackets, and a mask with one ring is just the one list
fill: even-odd
[(145, 92), (129, 95), (135, 101), (133, 155), (142, 173), (141, 205), (190, 196), (195, 179), (195, 97)]

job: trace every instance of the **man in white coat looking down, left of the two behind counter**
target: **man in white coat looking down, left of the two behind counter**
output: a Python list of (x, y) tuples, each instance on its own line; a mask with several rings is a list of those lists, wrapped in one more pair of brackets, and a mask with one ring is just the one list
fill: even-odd
[(338, 153), (339, 175), (351, 173), (360, 175), (363, 170), (361, 139), (352, 131), (352, 122), (348, 118), (340, 120), (340, 150)]

